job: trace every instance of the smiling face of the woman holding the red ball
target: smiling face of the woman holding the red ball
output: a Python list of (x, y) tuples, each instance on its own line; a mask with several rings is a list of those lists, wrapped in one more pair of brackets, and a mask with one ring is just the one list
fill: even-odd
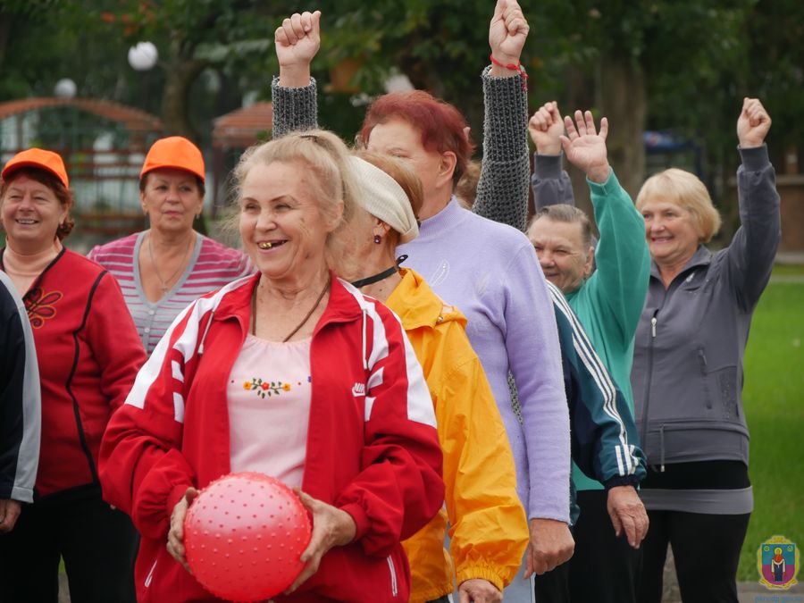
[(312, 197), (313, 178), (305, 163), (273, 162), (253, 166), (243, 180), (243, 249), (269, 279), (298, 278), (325, 263), (327, 236), (337, 222), (326, 220)]

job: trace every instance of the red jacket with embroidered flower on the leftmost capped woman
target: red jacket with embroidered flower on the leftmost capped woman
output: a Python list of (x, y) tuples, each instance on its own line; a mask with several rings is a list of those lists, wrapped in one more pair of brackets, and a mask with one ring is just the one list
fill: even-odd
[(117, 281), (83, 255), (64, 248), (22, 300), (42, 387), (42, 498), (98, 483), (106, 423), (146, 356)]

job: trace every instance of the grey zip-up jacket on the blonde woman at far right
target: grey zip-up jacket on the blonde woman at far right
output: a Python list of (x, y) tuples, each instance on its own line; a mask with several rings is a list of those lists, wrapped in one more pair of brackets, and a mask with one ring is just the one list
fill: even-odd
[(781, 239), (767, 147), (740, 149), (741, 227), (716, 253), (700, 246), (665, 289), (652, 264), (631, 382), (649, 465), (736, 460), (748, 465), (742, 359), (751, 315)]

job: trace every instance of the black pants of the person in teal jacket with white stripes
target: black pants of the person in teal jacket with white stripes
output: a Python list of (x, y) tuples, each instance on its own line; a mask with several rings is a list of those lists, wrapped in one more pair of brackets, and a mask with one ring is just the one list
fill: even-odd
[(605, 490), (578, 492), (581, 515), (574, 525), (573, 557), (536, 576), (537, 603), (633, 603), (641, 551), (616, 537)]

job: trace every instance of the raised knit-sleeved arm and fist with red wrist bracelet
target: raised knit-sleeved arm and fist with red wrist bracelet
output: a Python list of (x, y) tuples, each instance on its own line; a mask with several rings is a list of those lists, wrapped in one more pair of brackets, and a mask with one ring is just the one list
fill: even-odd
[[(489, 27), (492, 65), (482, 73), (483, 163), (473, 212), (516, 230), (528, 215), (528, 102), (519, 65), (528, 22), (515, 0), (498, 0)], [(500, 63), (500, 64), (498, 64)]]

